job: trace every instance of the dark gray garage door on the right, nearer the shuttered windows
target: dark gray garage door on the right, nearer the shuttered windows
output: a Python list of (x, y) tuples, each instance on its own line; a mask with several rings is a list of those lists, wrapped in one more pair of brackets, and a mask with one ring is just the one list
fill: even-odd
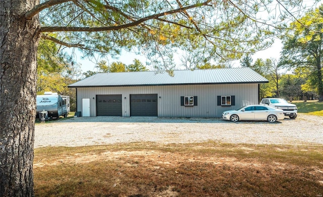
[(130, 116), (157, 116), (157, 94), (130, 94)]

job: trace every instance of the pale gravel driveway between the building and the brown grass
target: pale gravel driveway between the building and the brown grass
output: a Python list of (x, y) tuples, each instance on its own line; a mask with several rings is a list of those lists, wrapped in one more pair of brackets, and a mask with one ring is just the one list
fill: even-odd
[(77, 117), (35, 126), (35, 148), (152, 141), (323, 144), (323, 117), (299, 114), (277, 123), (220, 118)]

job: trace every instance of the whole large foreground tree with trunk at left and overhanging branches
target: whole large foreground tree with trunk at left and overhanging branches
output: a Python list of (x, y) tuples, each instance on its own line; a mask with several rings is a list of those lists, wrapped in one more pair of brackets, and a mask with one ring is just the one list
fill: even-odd
[[(282, 8), (303, 9), (295, 1), (284, 3)], [(270, 12), (268, 4), (272, 1), (1, 1), (0, 196), (33, 196), (40, 39), (78, 47), (89, 57), (114, 56), (136, 46), (166, 70), (178, 49), (202, 57), (196, 65), (226, 62), (270, 46), (275, 21), (258, 14)]]

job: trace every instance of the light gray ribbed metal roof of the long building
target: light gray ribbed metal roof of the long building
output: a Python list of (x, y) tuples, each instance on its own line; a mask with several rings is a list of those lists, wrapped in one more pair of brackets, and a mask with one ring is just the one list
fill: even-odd
[(268, 80), (250, 68), (222, 68), (206, 70), (175, 70), (167, 72), (144, 71), (97, 73), (69, 87), (153, 86), (188, 84), (268, 83)]

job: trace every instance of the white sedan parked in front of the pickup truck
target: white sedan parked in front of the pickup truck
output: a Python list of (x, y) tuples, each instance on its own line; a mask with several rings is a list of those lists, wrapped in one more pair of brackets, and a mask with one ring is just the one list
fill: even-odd
[(224, 120), (238, 122), (239, 120), (266, 120), (268, 122), (276, 122), (284, 120), (283, 110), (263, 105), (244, 106), (238, 110), (229, 110), (222, 113)]

